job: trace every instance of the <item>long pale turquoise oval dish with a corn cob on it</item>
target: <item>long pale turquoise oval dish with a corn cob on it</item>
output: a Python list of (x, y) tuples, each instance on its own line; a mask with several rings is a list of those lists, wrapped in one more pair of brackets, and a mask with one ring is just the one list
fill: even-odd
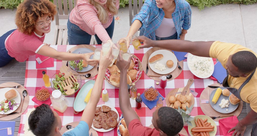
[(89, 80), (81, 87), (73, 103), (75, 112), (82, 112), (86, 108), (87, 104), (84, 102), (84, 100), (89, 90), (94, 87), (94, 84), (95, 80)]

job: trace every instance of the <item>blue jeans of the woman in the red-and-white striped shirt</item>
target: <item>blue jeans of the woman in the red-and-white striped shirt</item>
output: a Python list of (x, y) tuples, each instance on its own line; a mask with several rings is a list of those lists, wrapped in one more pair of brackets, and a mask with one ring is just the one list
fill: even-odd
[[(83, 31), (79, 28), (76, 24), (73, 24), (68, 20), (67, 22), (67, 28), (68, 28), (68, 41), (70, 45), (80, 45), (80, 44), (90, 44), (90, 40), (92, 35), (89, 35), (87, 32)], [(112, 39), (113, 36), (113, 30), (114, 30), (114, 17), (111, 25), (107, 27), (106, 32)], [(95, 35), (95, 39), (97, 44), (102, 44), (102, 41), (98, 38), (97, 35)]]

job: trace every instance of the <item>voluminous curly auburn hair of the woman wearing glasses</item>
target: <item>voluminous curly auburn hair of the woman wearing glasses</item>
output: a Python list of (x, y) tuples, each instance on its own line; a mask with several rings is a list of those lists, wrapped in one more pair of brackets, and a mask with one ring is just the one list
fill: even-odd
[(20, 32), (31, 35), (38, 18), (48, 15), (54, 20), (56, 13), (56, 5), (49, 0), (25, 0), (17, 8), (15, 24)]

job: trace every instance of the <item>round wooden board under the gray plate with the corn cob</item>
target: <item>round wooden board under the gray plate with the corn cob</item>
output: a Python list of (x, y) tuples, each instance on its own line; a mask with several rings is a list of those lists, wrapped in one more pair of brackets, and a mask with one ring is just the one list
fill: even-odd
[[(211, 84), (210, 86), (220, 86), (220, 87), (222, 87), (222, 85), (219, 84), (219, 83)], [(199, 99), (200, 107), (201, 107), (203, 113), (206, 116), (209, 116), (209, 117), (219, 117), (219, 116), (224, 116), (224, 115), (228, 115), (228, 114), (234, 114), (234, 116), (238, 116), (241, 113), (241, 111), (243, 109), (243, 101), (240, 101), (237, 109), (234, 112), (227, 113), (227, 114), (219, 113), (219, 112), (215, 111), (209, 103), (207, 103), (207, 104), (201, 103), (201, 99), (208, 99), (209, 98), (209, 96), (208, 96), (208, 89), (209, 89), (209, 95), (210, 95), (210, 93), (215, 88), (206, 87), (203, 90), (203, 92), (201, 93), (200, 99)], [(219, 117), (219, 118), (216, 118), (214, 121), (219, 121), (222, 118), (226, 118), (226, 117)]]

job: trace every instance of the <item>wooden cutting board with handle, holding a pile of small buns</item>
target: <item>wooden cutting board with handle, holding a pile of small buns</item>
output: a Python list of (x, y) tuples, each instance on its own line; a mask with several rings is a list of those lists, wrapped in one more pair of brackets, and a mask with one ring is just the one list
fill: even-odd
[(180, 95), (180, 93), (177, 93), (177, 92), (181, 92), (181, 95), (189, 95), (190, 97), (191, 97), (191, 101), (190, 101), (190, 103), (189, 103), (189, 107), (191, 107), (192, 105), (194, 105), (195, 104), (195, 98), (194, 98), (194, 96), (190, 93), (190, 90), (189, 90), (189, 87), (192, 85), (192, 83), (194, 82), (194, 80), (193, 79), (188, 79), (188, 82), (187, 82), (187, 85), (185, 86), (185, 87), (183, 87), (183, 88), (175, 88), (175, 89), (173, 89), (173, 90), (171, 90), (169, 93), (168, 93), (168, 95), (166, 96), (166, 105), (168, 106), (168, 107), (173, 107), (173, 103), (171, 104), (170, 102), (169, 102), (169, 97), (170, 96), (175, 96), (175, 97), (177, 97), (178, 95)]

